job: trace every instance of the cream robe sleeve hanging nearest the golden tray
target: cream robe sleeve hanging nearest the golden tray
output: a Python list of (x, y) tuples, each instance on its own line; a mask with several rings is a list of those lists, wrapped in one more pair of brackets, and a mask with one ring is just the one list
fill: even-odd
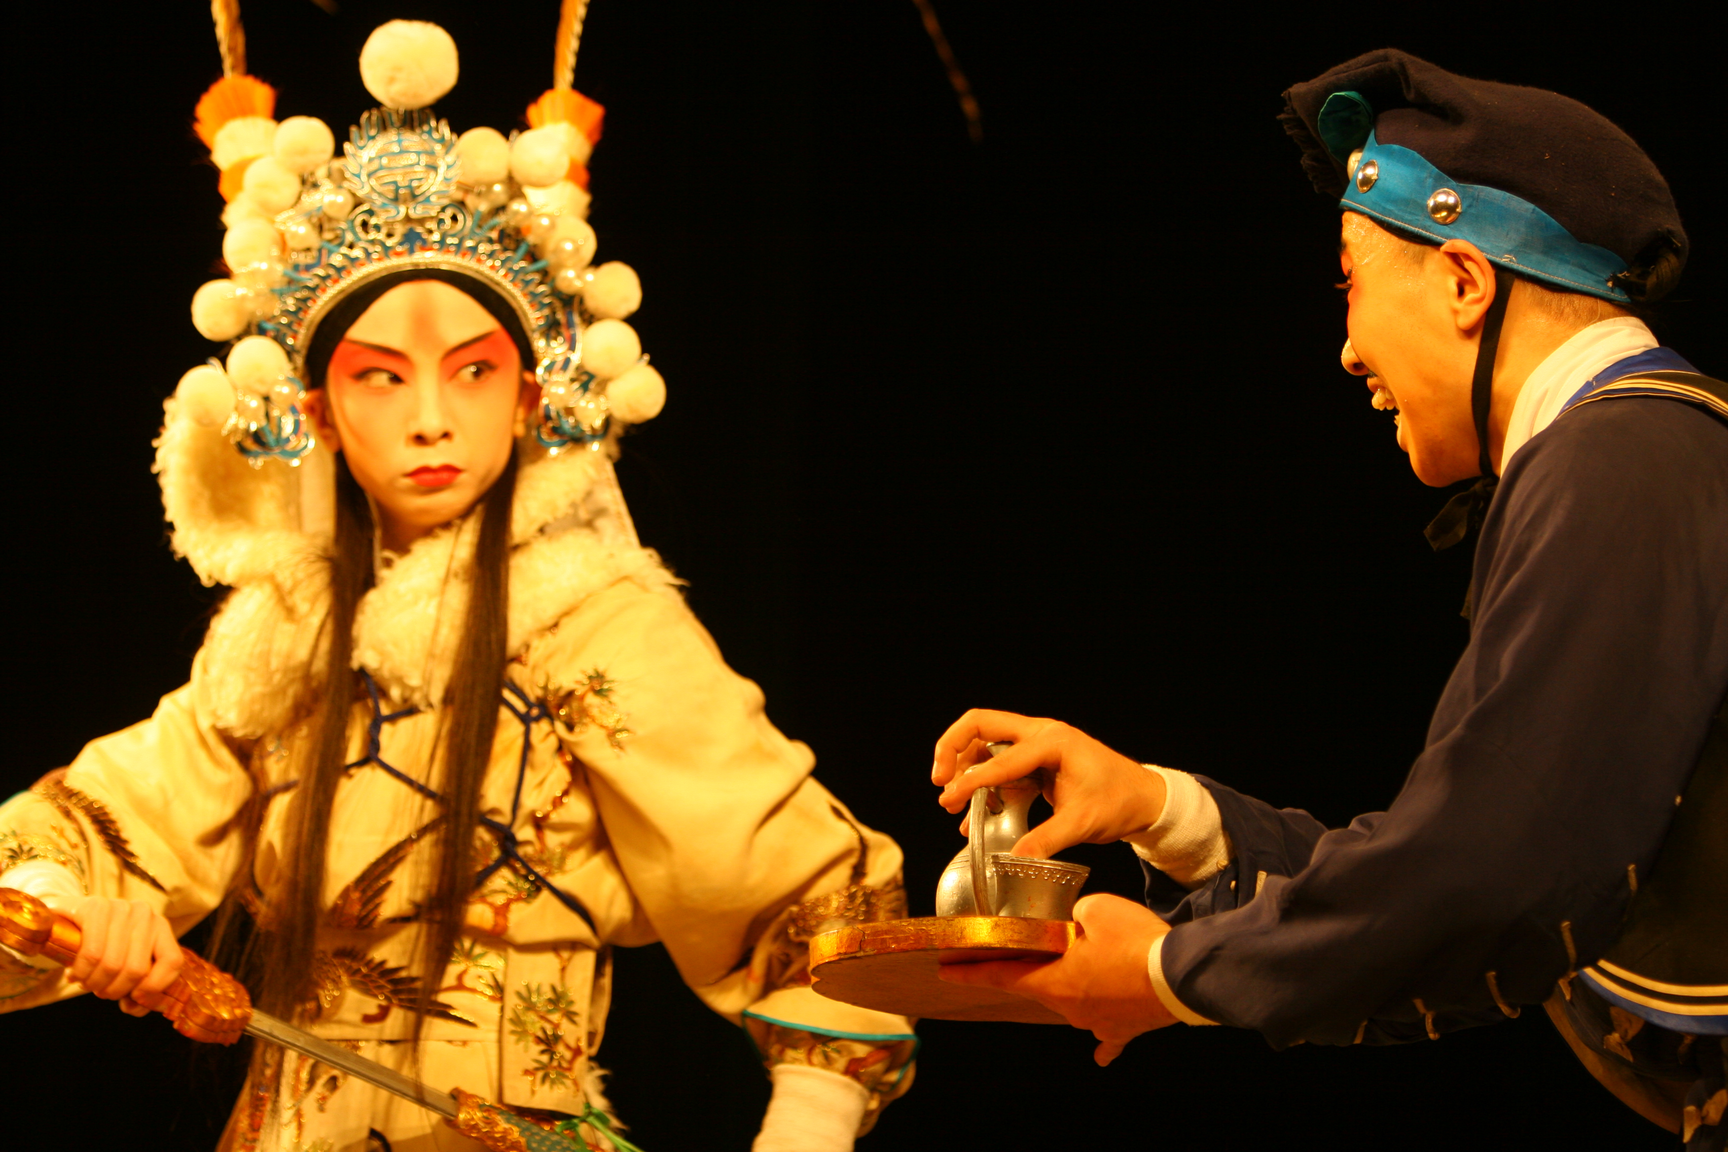
[(530, 665), (684, 983), (745, 1024), (766, 1062), (862, 1083), (867, 1128), (911, 1083), (916, 1038), (904, 1017), (810, 991), (807, 945), (904, 915), (899, 846), (812, 779), (810, 750), (769, 722), (762, 691), (669, 592), (634, 582), (598, 592)]

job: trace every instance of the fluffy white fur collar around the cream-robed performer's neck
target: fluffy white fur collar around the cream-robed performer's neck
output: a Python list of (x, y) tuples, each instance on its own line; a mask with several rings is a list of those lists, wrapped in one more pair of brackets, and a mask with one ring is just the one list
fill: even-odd
[[(199, 703), (238, 737), (278, 734), (306, 712), (328, 603), (332, 461), (321, 447), (295, 470), (251, 468), (226, 437), (164, 404), (156, 447), (175, 551), (204, 584), (233, 592), (199, 651)], [(593, 592), (632, 579), (672, 589), (636, 542), (603, 453), (529, 456), (511, 508), (508, 651)], [(354, 667), (396, 706), (430, 706), (449, 684), (472, 584), (473, 516), (413, 544), (378, 572), (354, 618)]]

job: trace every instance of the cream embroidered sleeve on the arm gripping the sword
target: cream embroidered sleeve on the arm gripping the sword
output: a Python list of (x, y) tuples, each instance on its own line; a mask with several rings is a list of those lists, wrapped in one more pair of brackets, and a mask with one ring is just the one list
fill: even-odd
[[(21, 864), (52, 862), (86, 895), (150, 903), (176, 936), (221, 903), (244, 851), (235, 817), (254, 788), (200, 712), (200, 665), (149, 720), (90, 741), (71, 767), (0, 805), (0, 886)], [(79, 991), (60, 967), (9, 955), (0, 971), (0, 1012)]]

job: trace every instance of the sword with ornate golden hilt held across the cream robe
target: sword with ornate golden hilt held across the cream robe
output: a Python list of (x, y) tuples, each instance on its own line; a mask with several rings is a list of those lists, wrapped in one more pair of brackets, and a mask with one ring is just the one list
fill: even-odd
[[(79, 940), (81, 931), (76, 922), (50, 912), (48, 905), (29, 893), (0, 888), (0, 945), (24, 957), (45, 955), (57, 964), (71, 964), (78, 957)], [(195, 952), (181, 948), (180, 955), (185, 957), (180, 978), (162, 993), (162, 1002), (156, 1010), (173, 1021), (175, 1031), (183, 1036), (228, 1045), (242, 1033), (249, 1033), (259, 1040), (292, 1048), (437, 1112), (460, 1133), (479, 1140), (494, 1152), (574, 1152), (586, 1149), (588, 1145), (577, 1133), (577, 1126), (584, 1123), (607, 1136), (617, 1152), (641, 1152), (613, 1133), (607, 1116), (593, 1107), (579, 1119), (546, 1130), (461, 1088), (454, 1092), (429, 1088), (377, 1060), (368, 1060), (287, 1021), (259, 1012), (252, 1007), (252, 997), (247, 995), (245, 984)]]

